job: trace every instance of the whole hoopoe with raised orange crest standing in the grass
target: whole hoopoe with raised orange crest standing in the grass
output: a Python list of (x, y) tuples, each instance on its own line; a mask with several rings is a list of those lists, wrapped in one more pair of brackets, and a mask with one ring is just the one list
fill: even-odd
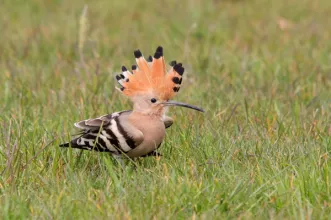
[(121, 85), (117, 89), (131, 99), (133, 110), (75, 123), (82, 130), (80, 136), (60, 147), (110, 152), (115, 157), (155, 156), (159, 155), (156, 150), (165, 137), (165, 129), (173, 124), (173, 119), (165, 115), (168, 106), (204, 112), (170, 100), (180, 89), (184, 67), (172, 61), (167, 73), (162, 47), (147, 61), (140, 50), (134, 51), (134, 55), (137, 65), (132, 66), (132, 72), (123, 66), (122, 74), (116, 76)]

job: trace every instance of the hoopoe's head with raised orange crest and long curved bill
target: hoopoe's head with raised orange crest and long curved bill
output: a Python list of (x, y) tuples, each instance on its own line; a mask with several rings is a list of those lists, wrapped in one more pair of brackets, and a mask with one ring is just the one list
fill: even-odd
[(199, 107), (170, 100), (180, 89), (184, 67), (172, 61), (167, 72), (162, 47), (147, 61), (140, 50), (134, 51), (134, 55), (137, 66), (132, 66), (132, 72), (123, 66), (122, 74), (116, 76), (121, 85), (119, 90), (133, 101), (134, 111), (162, 116), (165, 107), (181, 106), (204, 112)]

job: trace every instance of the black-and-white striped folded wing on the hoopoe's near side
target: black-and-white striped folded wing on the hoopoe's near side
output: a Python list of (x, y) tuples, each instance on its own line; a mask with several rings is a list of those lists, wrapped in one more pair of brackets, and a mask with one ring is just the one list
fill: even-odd
[(116, 112), (77, 122), (75, 126), (82, 129), (81, 136), (73, 139), (70, 144), (60, 146), (111, 152), (117, 155), (127, 153), (137, 147), (144, 138), (141, 131), (130, 126), (130, 113), (131, 111)]

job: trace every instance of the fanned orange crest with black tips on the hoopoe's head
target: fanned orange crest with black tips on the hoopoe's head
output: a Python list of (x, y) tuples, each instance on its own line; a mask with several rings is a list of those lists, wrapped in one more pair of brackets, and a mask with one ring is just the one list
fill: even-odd
[(167, 72), (162, 47), (158, 47), (147, 61), (140, 50), (134, 51), (134, 56), (137, 65), (132, 65), (132, 72), (123, 66), (122, 74), (116, 76), (122, 86), (119, 90), (124, 95), (133, 97), (152, 92), (163, 100), (169, 100), (179, 91), (184, 68), (181, 63), (172, 61)]

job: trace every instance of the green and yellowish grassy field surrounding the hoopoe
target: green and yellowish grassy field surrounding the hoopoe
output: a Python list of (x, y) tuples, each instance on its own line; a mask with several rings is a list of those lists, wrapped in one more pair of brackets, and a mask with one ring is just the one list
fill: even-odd
[[(86, 5), (85, 5), (86, 4)], [(87, 11), (83, 12), (87, 6)], [(331, 1), (0, 3), (0, 219), (327, 219)], [(60, 149), (131, 108), (133, 50), (186, 68), (162, 158)]]

